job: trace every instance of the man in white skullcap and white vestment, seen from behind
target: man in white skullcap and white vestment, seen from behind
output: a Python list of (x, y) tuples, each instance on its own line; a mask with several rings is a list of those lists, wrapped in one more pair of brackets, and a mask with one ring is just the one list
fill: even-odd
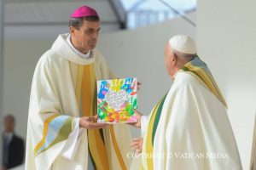
[(172, 88), (149, 116), (136, 111), (140, 121), (133, 124), (142, 128), (143, 138), (133, 139), (131, 147), (142, 152), (143, 169), (241, 169), (225, 100), (196, 53), (188, 36), (166, 43)]

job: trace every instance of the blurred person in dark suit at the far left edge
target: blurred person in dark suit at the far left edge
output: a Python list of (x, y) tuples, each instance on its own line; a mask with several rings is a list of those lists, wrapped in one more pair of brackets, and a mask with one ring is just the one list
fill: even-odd
[(3, 119), (3, 163), (2, 169), (9, 169), (19, 166), (24, 160), (23, 139), (15, 134), (15, 117), (12, 115), (4, 116)]

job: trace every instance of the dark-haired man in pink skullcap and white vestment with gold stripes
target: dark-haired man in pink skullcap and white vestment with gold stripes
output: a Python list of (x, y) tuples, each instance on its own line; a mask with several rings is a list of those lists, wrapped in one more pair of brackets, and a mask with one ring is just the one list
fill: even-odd
[(69, 25), (70, 33), (57, 37), (34, 72), (26, 170), (127, 169), (129, 127), (95, 122), (96, 80), (114, 77), (96, 49), (100, 18), (82, 6)]

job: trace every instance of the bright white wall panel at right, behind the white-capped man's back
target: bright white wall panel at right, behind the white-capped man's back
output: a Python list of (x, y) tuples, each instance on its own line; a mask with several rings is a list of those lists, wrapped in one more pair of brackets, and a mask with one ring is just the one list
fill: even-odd
[(197, 3), (199, 54), (224, 92), (242, 166), (249, 169), (256, 112), (256, 2)]

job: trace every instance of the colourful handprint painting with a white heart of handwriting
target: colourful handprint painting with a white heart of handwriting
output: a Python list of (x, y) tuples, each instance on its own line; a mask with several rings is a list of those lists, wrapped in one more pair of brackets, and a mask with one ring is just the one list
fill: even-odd
[(137, 122), (137, 78), (97, 81), (97, 122)]

